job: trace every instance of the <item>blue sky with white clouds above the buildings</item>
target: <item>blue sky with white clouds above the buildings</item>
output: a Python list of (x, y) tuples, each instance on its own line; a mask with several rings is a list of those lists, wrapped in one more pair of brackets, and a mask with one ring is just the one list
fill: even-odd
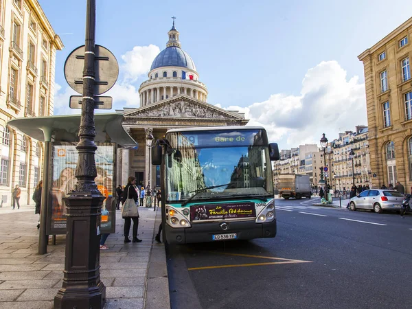
[[(86, 1), (38, 1), (65, 44), (56, 58), (55, 113), (69, 113), (63, 66), (84, 44)], [(135, 94), (152, 58), (165, 48), (174, 15), (208, 102), (243, 111), (281, 148), (367, 124), (357, 56), (412, 12), (406, 0), (96, 2), (96, 43), (120, 65), (117, 85), (108, 92), (115, 108), (138, 106)]]

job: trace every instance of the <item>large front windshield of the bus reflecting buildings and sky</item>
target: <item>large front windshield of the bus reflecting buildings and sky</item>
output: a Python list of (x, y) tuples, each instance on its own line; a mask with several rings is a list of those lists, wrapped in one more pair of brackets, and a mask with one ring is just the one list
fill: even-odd
[(168, 133), (168, 201), (273, 196), (266, 132), (253, 130)]

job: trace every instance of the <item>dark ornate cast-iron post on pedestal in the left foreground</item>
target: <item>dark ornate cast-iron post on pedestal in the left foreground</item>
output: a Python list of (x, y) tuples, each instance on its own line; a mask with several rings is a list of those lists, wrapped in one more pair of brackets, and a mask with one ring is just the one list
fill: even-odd
[(87, 0), (83, 100), (78, 146), (77, 184), (65, 196), (67, 234), (62, 288), (54, 308), (103, 308), (106, 288), (100, 281), (100, 221), (104, 197), (95, 184), (95, 0)]

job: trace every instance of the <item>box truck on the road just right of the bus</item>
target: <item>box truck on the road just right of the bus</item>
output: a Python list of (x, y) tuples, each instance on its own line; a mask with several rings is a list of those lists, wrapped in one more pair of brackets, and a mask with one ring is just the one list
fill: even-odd
[(280, 174), (277, 187), (279, 188), (279, 196), (285, 200), (291, 197), (310, 198), (312, 196), (309, 175)]

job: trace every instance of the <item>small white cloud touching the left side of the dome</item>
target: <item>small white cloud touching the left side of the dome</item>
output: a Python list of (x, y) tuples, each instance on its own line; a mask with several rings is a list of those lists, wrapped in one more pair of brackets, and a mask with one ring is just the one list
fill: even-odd
[(156, 45), (135, 46), (132, 50), (122, 55), (124, 64), (121, 66), (124, 78), (135, 81), (139, 76), (150, 71), (150, 66), (153, 60), (160, 53), (160, 49)]

